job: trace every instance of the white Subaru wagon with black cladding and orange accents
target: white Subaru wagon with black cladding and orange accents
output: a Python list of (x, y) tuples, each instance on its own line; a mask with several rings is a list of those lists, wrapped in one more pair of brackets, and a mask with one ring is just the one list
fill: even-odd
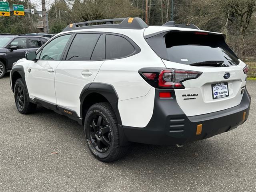
[(20, 113), (40, 104), (76, 120), (111, 162), (129, 142), (184, 144), (244, 123), (247, 72), (223, 34), (122, 18), (68, 25), (14, 63), (10, 82)]

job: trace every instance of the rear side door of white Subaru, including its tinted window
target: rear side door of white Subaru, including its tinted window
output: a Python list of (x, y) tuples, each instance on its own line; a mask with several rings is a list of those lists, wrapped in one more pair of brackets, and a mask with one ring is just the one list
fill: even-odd
[(104, 33), (78, 33), (56, 69), (57, 105), (80, 115), (79, 96), (93, 82), (105, 60)]

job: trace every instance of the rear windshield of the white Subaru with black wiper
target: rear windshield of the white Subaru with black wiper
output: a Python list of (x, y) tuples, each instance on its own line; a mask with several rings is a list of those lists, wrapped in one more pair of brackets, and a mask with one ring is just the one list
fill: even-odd
[[(239, 60), (221, 35), (196, 32), (170, 32), (165, 36), (167, 58), (172, 62), (221, 67), (235, 66)], [(200, 64), (202, 63), (202, 64)]]

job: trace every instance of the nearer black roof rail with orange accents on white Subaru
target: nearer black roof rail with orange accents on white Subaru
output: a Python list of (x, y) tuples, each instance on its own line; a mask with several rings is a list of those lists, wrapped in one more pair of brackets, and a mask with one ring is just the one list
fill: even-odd
[[(121, 22), (120, 24), (115, 24), (114, 22)], [(95, 25), (88, 25), (95, 23)], [(96, 23), (106, 23), (106, 24), (99, 24)], [(122, 29), (144, 29), (147, 28), (148, 25), (138, 17), (135, 18), (115, 18), (115, 19), (102, 19), (102, 20), (94, 20), (94, 21), (86, 21), (80, 23), (72, 23), (63, 31), (70, 31), (70, 30), (79, 30), (79, 29), (87, 29), (87, 28), (122, 28)]]

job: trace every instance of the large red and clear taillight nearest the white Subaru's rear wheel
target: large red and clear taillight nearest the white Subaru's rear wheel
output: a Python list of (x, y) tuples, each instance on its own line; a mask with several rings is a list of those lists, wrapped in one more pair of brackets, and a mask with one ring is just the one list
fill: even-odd
[(156, 88), (175, 89), (185, 88), (182, 82), (198, 78), (202, 74), (202, 72), (197, 71), (160, 68), (142, 68), (139, 73), (150, 85)]

